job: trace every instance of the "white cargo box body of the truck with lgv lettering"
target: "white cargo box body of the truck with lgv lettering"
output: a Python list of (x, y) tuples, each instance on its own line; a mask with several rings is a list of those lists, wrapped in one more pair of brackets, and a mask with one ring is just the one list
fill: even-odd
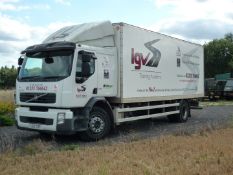
[(190, 43), (125, 23), (114, 24), (120, 102), (204, 95), (204, 51)]

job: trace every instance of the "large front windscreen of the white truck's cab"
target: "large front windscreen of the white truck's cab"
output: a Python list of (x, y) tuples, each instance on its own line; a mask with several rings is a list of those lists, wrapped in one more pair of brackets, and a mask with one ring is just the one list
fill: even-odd
[(18, 79), (61, 80), (71, 73), (73, 50), (27, 53)]

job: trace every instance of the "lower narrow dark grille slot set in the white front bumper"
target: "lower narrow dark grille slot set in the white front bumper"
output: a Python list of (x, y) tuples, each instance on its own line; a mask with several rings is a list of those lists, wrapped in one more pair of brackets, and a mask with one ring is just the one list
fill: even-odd
[(53, 119), (20, 116), (23, 123), (53, 125)]

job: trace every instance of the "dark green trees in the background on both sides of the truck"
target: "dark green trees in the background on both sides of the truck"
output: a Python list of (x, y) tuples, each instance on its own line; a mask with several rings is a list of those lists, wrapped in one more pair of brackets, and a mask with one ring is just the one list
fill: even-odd
[[(227, 33), (224, 38), (214, 39), (204, 44), (205, 78), (216, 74), (233, 72), (233, 34)], [(0, 68), (0, 89), (15, 87), (17, 68), (12, 66)]]

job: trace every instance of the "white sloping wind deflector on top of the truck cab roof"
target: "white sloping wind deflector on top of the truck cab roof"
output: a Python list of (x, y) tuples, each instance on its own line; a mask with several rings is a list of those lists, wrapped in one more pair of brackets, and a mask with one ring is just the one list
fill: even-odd
[(90, 46), (114, 46), (114, 31), (110, 21), (99, 23), (84, 23), (64, 27), (51, 34), (43, 43), (68, 41)]

